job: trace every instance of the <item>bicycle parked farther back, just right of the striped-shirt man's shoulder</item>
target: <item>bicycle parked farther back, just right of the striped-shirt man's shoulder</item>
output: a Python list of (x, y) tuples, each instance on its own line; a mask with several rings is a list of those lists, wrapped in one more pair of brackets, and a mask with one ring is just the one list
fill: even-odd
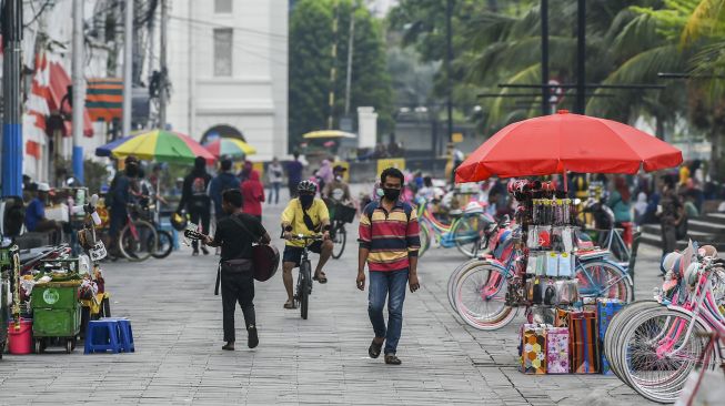
[(445, 224), (433, 215), (427, 202), (419, 200), (417, 221), (421, 229), (421, 248), (419, 256), (425, 254), (431, 246), (431, 235), (435, 242), (444, 247), (456, 247), (462, 254), (474, 258), (484, 248), (483, 236), (490, 224), (495, 223), (494, 219), (483, 211), (483, 207), (475, 203), (460, 213), (452, 215), (453, 221)]

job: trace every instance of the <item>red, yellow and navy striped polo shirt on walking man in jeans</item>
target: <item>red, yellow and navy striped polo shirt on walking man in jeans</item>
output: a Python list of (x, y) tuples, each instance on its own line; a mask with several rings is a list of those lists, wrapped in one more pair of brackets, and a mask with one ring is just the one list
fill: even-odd
[(396, 202), (389, 213), (380, 202), (372, 202), (360, 216), (360, 247), (370, 250), (370, 271), (407, 270), (409, 256), (417, 256), (421, 247), (415, 210)]

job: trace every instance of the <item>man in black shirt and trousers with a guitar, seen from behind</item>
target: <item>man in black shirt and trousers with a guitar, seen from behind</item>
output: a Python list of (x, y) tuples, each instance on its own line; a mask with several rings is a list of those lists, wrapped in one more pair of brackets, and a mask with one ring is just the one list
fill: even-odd
[[(238, 189), (224, 191), (222, 210), (229, 216), (217, 224), (214, 237), (207, 236), (207, 244), (221, 246), (221, 270), (217, 287), (221, 280), (222, 306), (224, 312), (224, 342), (222, 349), (234, 351), (234, 309), (239, 302), (244, 314), (249, 335), (248, 345), (256, 347), (256, 321), (254, 316), (254, 275), (252, 270), (252, 244), (269, 244), (271, 238), (266, 230), (255, 217), (242, 213), (242, 193)], [(215, 294), (218, 291), (214, 292)]]

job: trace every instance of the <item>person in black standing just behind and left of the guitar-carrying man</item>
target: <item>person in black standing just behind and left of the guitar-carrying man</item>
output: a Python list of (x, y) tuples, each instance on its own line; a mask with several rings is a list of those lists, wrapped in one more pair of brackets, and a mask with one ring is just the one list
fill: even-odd
[[(209, 183), (211, 183), (211, 175), (207, 173), (207, 160), (203, 156), (197, 156), (194, 169), (184, 177), (177, 213), (181, 214), (181, 211), (185, 207), (189, 215), (191, 215), (191, 222), (200, 226), (199, 231), (201, 233), (209, 232), (209, 222), (211, 220), (211, 199), (207, 193)], [(199, 255), (199, 242), (197, 240), (191, 243), (191, 247), (193, 248), (192, 255)], [(207, 250), (203, 242), (201, 251), (204, 255), (209, 255), (209, 250)]]

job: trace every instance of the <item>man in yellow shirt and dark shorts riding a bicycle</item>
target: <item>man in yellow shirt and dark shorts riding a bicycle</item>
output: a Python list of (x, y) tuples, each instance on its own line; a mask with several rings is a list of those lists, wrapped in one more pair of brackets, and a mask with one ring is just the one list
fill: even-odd
[(284, 230), (284, 238), (288, 240), (282, 255), (282, 280), (288, 294), (284, 308), (294, 308), (292, 270), (300, 266), (305, 244), (304, 241), (292, 241), (292, 237), (296, 234), (323, 233), (323, 241), (316, 241), (308, 246), (309, 251), (320, 254), (320, 262), (318, 262), (313, 280), (321, 284), (328, 282), (322, 268), (330, 260), (333, 246), (330, 240), (330, 213), (328, 206), (322, 200), (315, 199), (318, 185), (311, 181), (302, 181), (298, 185), (298, 193), (299, 197), (292, 199), (284, 212), (282, 212), (282, 230)]

